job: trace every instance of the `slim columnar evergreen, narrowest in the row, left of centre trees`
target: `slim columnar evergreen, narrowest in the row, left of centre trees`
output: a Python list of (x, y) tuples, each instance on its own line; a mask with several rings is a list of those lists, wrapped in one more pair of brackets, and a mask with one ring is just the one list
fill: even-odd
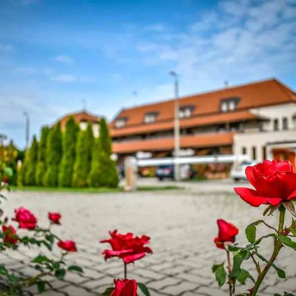
[(35, 180), (37, 186), (43, 186), (43, 179), (46, 172), (46, 144), (50, 128), (42, 127), (41, 138), (38, 144), (38, 162), (36, 166)]

